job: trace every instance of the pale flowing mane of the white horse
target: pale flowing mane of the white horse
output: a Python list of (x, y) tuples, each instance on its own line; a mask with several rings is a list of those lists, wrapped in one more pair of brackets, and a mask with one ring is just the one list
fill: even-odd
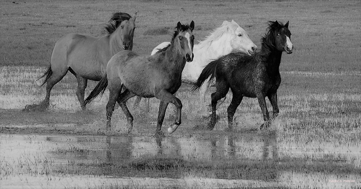
[(240, 27), (235, 22), (224, 22), (221, 27), (215, 28), (213, 32), (206, 36), (203, 41), (199, 41), (199, 46), (210, 46), (213, 41), (218, 40), (226, 31), (230, 29), (232, 32), (235, 32), (237, 28)]

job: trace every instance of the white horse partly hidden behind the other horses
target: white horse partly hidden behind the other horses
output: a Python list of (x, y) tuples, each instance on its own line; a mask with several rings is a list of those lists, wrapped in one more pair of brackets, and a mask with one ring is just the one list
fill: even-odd
[[(152, 54), (158, 50), (168, 46), (170, 42), (162, 42), (153, 49)], [(252, 55), (257, 50), (251, 39), (249, 39), (247, 32), (240, 27), (234, 20), (232, 22), (224, 21), (221, 27), (214, 29), (213, 33), (206, 37), (204, 41), (199, 41), (199, 44), (194, 45), (192, 62), (187, 62), (182, 72), (182, 82), (186, 84), (194, 84), (203, 68), (213, 59), (217, 59), (223, 55), (229, 54), (232, 51), (241, 51)], [(205, 93), (209, 87), (208, 82), (204, 82), (199, 89), (200, 100), (205, 101)], [(207, 83), (207, 84), (206, 84)], [(217, 107), (226, 99), (219, 100)], [(138, 105), (140, 98), (136, 100)]]

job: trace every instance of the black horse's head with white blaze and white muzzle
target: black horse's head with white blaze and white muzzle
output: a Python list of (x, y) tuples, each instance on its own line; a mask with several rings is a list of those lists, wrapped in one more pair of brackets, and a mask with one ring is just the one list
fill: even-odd
[(288, 30), (288, 21), (286, 24), (279, 23), (277, 21), (269, 21), (270, 34), (273, 35), (275, 47), (279, 51), (286, 51), (287, 54), (291, 54), (293, 45), (291, 42), (291, 32)]

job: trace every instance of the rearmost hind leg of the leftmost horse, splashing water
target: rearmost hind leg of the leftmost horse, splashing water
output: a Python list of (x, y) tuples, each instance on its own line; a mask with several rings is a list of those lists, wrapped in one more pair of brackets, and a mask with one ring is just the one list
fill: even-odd
[(68, 73), (68, 70), (69, 70), (69, 68), (62, 69), (62, 70), (59, 70), (59, 71), (52, 70), (53, 74), (51, 75), (51, 77), (46, 82), (45, 99), (43, 100), (43, 102), (41, 102), (39, 104), (40, 107), (47, 108), (49, 106), (49, 99), (50, 99), (51, 90), (53, 89), (55, 84), (57, 84), (60, 80), (62, 80), (62, 78), (64, 78), (66, 73)]

